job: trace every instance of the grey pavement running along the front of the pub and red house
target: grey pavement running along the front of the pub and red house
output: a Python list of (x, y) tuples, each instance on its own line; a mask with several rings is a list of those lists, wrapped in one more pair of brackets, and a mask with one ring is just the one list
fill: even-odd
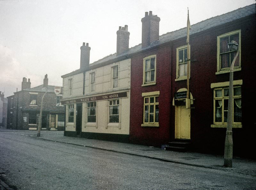
[[(175, 152), (163, 150), (158, 147), (148, 147), (144, 145), (130, 143), (118, 143), (79, 137), (68, 137), (63, 135), (63, 131), (41, 131), (40, 137), (37, 137), (35, 134), (37, 133), (33, 133), (33, 135), (31, 134), (29, 136), (46, 141), (73, 144), (77, 146), (90, 147), (94, 149), (108, 150), (113, 152), (120, 152), (129, 155), (161, 160), (165, 162), (185, 164), (196, 167), (204, 167), (209, 169), (234, 171), (241, 174), (254, 176), (256, 180), (256, 160), (252, 159), (233, 157), (233, 166), (232, 168), (228, 168), (223, 166), (223, 156), (218, 155), (203, 154), (197, 152)], [(8, 185), (4, 183), (4, 181), (0, 179), (0, 190), (2, 189), (12, 188), (10, 188)]]

